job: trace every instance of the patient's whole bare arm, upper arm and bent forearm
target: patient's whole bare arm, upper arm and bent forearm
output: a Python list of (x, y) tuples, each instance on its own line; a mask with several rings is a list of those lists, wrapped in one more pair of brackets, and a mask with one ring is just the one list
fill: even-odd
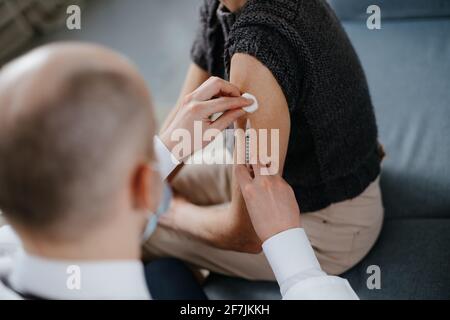
[[(289, 110), (281, 87), (270, 70), (246, 54), (233, 57), (230, 80), (241, 92), (249, 92), (259, 101), (259, 110), (249, 116), (252, 127), (279, 130), (278, 174), (281, 175), (290, 132)], [(235, 127), (245, 128), (246, 120), (241, 118)], [(261, 241), (252, 227), (234, 177), (230, 207), (199, 207), (178, 200), (161, 223), (221, 249), (250, 253), (261, 251)]]

